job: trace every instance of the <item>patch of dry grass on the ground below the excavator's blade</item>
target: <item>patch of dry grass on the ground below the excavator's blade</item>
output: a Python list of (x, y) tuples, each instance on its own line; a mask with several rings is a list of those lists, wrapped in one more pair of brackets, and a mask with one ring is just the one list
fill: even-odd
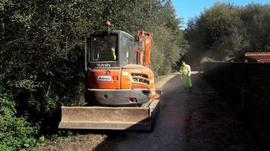
[(90, 134), (77, 134), (56, 137), (40, 146), (26, 151), (103, 151), (116, 148), (125, 138), (125, 131), (96, 131)]

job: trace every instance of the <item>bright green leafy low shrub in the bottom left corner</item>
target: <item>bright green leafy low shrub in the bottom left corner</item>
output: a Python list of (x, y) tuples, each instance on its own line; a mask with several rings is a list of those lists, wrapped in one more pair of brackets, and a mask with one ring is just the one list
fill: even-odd
[(11, 151), (37, 143), (37, 127), (16, 115), (16, 103), (0, 88), (0, 150)]

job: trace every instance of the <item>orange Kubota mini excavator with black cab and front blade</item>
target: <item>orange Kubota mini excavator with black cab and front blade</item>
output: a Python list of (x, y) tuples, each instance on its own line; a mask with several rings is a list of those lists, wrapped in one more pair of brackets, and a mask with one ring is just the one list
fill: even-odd
[(85, 38), (86, 106), (62, 106), (59, 128), (152, 131), (161, 90), (150, 69), (152, 34), (95, 31)]

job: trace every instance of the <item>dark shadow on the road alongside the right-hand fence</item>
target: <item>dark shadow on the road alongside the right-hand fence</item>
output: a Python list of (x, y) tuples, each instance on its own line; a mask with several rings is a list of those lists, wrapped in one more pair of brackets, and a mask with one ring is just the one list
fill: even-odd
[(203, 76), (194, 75), (193, 92), (185, 103), (185, 141), (190, 150), (260, 150), (246, 126)]

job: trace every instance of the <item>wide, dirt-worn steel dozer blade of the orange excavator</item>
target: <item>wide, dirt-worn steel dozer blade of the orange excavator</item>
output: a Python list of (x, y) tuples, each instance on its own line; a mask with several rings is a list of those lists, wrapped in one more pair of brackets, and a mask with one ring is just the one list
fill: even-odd
[(149, 107), (66, 107), (62, 106), (58, 128), (152, 131), (159, 111), (159, 99)]

